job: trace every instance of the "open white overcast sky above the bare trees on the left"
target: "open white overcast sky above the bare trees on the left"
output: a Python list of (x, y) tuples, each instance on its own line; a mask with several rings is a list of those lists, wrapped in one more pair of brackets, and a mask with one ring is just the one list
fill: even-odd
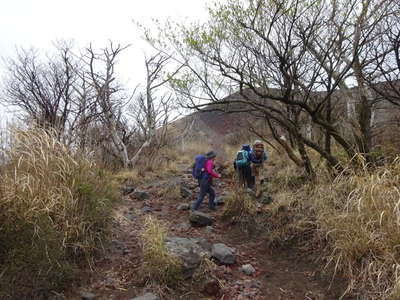
[[(132, 20), (150, 25), (151, 19), (205, 20), (213, 0), (0, 0), (0, 56), (16, 47), (52, 49), (58, 39), (94, 48), (108, 40), (132, 46), (121, 53), (119, 72), (130, 86), (143, 82), (146, 44)], [(0, 77), (4, 69), (0, 66)]]

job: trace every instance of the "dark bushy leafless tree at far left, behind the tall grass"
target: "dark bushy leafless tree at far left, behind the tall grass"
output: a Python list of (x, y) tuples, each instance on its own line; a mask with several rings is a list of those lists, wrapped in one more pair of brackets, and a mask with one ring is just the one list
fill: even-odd
[(76, 62), (69, 46), (43, 60), (35, 50), (18, 50), (7, 62), (3, 102), (45, 127), (65, 128), (73, 111)]

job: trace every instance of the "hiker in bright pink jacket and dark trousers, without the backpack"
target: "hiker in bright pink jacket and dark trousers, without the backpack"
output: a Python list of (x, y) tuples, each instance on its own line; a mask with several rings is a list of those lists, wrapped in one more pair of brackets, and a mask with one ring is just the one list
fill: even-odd
[(198, 210), (201, 203), (204, 200), (204, 197), (208, 194), (208, 208), (211, 210), (215, 210), (215, 191), (212, 188), (212, 179), (213, 178), (221, 178), (220, 174), (215, 173), (214, 171), (214, 160), (216, 158), (216, 154), (214, 151), (210, 151), (206, 154), (207, 161), (205, 163), (205, 170), (199, 179), (200, 185), (200, 194), (197, 197), (196, 202), (192, 206), (192, 211)]

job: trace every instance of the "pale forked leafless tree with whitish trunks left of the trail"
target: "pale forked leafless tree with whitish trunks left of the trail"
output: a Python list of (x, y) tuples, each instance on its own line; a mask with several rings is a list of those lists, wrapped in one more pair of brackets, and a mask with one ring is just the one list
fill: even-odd
[[(145, 60), (145, 91), (129, 105), (132, 99), (123, 96), (122, 88), (115, 81), (117, 57), (124, 49), (126, 47), (114, 46), (110, 42), (101, 53), (95, 53), (90, 46), (87, 48), (86, 62), (89, 66), (89, 81), (96, 91), (101, 120), (108, 129), (114, 152), (118, 154), (124, 168), (134, 168), (143, 151), (161, 141), (157, 137), (165, 135), (166, 124), (170, 120), (172, 97), (167, 94), (158, 97), (157, 93), (169, 81), (163, 73), (169, 57), (156, 54)], [(130, 107), (130, 113), (127, 107)], [(126, 115), (133, 119), (129, 120)]]

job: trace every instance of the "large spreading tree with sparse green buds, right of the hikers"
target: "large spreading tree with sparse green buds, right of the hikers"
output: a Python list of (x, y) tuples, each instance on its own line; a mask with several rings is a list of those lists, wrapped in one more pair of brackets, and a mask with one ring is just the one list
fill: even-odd
[[(270, 120), (272, 131), (288, 133), (310, 175), (307, 148), (340, 170), (331, 139), (349, 158), (360, 152), (369, 159), (377, 99), (364, 78), (376, 62), (370, 50), (383, 35), (382, 22), (396, 16), (395, 3), (229, 0), (211, 10), (206, 24), (164, 32), (185, 65), (172, 83), (188, 108)], [(221, 89), (232, 88), (239, 93), (221, 97)], [(353, 136), (340, 126), (346, 119), (336, 111), (343, 106)], [(323, 144), (314, 130), (325, 132)]]

